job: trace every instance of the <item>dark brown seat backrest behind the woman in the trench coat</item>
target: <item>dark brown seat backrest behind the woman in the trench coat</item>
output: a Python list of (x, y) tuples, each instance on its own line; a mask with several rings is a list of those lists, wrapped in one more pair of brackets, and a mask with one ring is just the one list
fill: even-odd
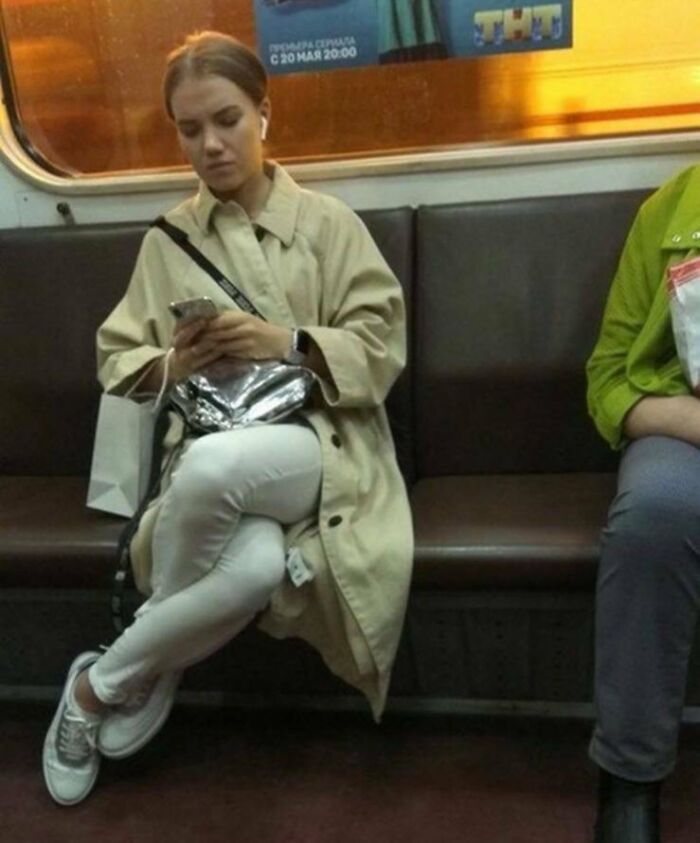
[[(413, 211), (362, 214), (410, 300)], [(100, 388), (95, 331), (121, 298), (147, 226), (0, 231), (0, 472), (86, 475)], [(404, 471), (411, 471), (408, 376), (391, 396)]]

